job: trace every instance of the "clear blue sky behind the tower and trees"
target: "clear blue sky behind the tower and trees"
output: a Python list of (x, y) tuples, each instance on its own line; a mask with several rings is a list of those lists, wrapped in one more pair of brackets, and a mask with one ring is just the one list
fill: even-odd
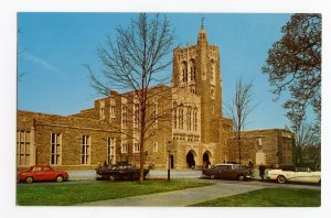
[[(118, 25), (126, 26), (137, 13), (18, 13), (18, 70), (26, 73), (18, 83), (18, 109), (72, 115), (90, 108), (100, 96), (89, 86), (83, 64), (100, 65), (96, 47)], [(290, 14), (280, 13), (168, 13), (175, 30), (175, 45), (196, 44), (201, 18), (209, 43), (221, 51), (223, 106), (234, 95), (236, 79), (253, 80), (253, 103), (246, 129), (284, 128), (282, 99), (274, 102), (271, 87), (261, 66), (268, 48), (281, 36)], [(172, 58), (172, 55), (169, 57)], [(171, 74), (170, 67), (164, 74)]]

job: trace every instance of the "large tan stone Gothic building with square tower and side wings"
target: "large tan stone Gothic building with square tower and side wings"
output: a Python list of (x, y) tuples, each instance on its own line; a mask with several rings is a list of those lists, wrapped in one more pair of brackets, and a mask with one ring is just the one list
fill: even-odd
[[(223, 118), (220, 50), (204, 26), (197, 44), (173, 51), (172, 87), (150, 88), (146, 164), (164, 168), (235, 162), (232, 120)], [(128, 161), (139, 164), (139, 103), (134, 91), (95, 100), (72, 116), (18, 111), (18, 166), (46, 163), (65, 168)], [(286, 135), (286, 137), (285, 137)], [(292, 135), (285, 130), (247, 131), (243, 159), (289, 163)], [(261, 142), (261, 144), (256, 144)], [(170, 152), (170, 153), (169, 153)]]

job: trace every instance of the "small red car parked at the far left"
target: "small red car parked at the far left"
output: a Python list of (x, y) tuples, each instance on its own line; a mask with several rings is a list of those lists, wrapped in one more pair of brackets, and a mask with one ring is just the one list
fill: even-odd
[(32, 183), (34, 181), (56, 181), (63, 182), (68, 179), (68, 174), (65, 171), (55, 171), (50, 165), (38, 164), (30, 167), (28, 171), (18, 174), (19, 182)]

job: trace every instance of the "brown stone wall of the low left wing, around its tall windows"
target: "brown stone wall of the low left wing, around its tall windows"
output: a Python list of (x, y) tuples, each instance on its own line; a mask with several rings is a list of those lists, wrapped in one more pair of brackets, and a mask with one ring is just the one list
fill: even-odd
[[(30, 165), (51, 164), (52, 133), (61, 134), (61, 157), (55, 167), (64, 168), (94, 168), (107, 160), (107, 139), (119, 141), (118, 133), (99, 120), (18, 111), (18, 130), (26, 129), (34, 129), (35, 162)], [(88, 164), (81, 162), (83, 135), (90, 139)]]

